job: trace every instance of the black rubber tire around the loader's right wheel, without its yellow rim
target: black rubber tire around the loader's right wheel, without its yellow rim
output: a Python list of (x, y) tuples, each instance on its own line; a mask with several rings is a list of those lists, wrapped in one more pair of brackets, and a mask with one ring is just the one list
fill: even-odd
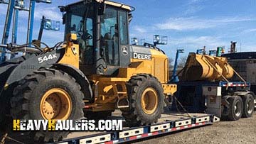
[[(127, 121), (128, 126), (142, 126), (156, 123), (164, 112), (164, 89), (161, 83), (149, 74), (137, 74), (131, 77), (128, 84), (131, 86), (129, 90), (130, 108), (121, 109), (122, 116)], [(154, 113), (147, 114), (142, 109), (142, 94), (145, 89), (153, 88), (156, 91), (158, 105)]]

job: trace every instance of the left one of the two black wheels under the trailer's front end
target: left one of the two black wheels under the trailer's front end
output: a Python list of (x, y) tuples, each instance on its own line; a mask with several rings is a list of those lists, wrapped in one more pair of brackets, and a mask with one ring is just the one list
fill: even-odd
[[(230, 103), (230, 108), (228, 111), (228, 119), (231, 121), (237, 121), (242, 117), (242, 98), (240, 96), (230, 96), (228, 99)], [(236, 109), (235, 109), (236, 106)]]

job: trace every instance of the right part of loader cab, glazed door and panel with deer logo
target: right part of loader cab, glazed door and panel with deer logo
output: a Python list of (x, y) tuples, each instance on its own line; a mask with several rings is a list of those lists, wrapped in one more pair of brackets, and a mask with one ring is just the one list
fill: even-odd
[(105, 64), (104, 74), (117, 74), (129, 61), (127, 11), (107, 6), (100, 16), (100, 55)]

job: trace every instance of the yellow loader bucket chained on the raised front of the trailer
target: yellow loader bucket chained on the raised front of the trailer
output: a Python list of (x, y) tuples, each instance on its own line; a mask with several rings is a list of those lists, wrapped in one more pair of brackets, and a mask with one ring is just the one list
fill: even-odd
[(181, 80), (216, 81), (233, 77), (233, 68), (228, 64), (225, 57), (213, 57), (210, 55), (197, 55), (191, 52), (183, 69)]

